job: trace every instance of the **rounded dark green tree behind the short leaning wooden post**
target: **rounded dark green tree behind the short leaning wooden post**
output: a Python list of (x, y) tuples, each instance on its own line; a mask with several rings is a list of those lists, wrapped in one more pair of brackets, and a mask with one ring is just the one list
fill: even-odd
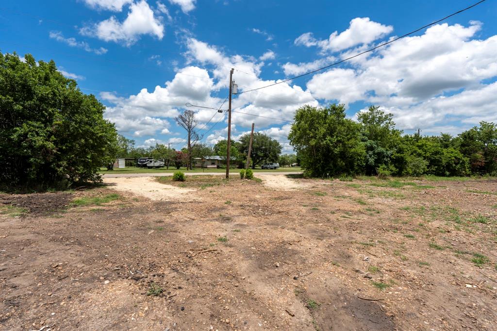
[[(250, 143), (250, 134), (247, 133), (240, 137), (240, 145), (238, 150), (243, 158), (247, 158), (248, 145)], [(268, 135), (260, 132), (254, 132), (252, 141), (252, 150), (250, 152), (250, 161), (252, 162), (252, 169), (256, 165), (266, 162), (278, 162), (279, 155), (281, 154), (281, 145), (276, 139), (272, 139)]]

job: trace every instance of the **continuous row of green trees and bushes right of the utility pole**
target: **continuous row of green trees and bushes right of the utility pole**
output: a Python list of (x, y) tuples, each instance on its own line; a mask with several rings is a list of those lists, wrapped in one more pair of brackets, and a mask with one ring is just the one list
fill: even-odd
[(404, 134), (377, 106), (345, 118), (343, 104), (303, 106), (288, 136), (304, 173), (438, 176), (497, 175), (497, 127), (480, 122), (453, 137)]

